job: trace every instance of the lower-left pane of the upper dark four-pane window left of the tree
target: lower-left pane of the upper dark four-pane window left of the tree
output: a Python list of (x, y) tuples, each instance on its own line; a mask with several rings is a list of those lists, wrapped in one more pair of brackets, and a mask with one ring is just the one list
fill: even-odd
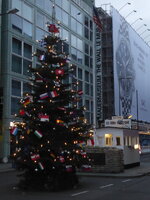
[(12, 71), (21, 74), (22, 73), (22, 60), (20, 57), (12, 55)]

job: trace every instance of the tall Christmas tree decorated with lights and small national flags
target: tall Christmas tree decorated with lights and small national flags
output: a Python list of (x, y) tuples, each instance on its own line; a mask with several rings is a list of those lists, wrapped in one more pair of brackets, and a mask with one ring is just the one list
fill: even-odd
[[(79, 107), (78, 82), (67, 83), (73, 67), (63, 50), (59, 28), (48, 25), (49, 35), (34, 53), (41, 66), (30, 67), (32, 92), (24, 94), (11, 127), (12, 157), (21, 171), (19, 186), (34, 189), (65, 189), (78, 183), (76, 169), (89, 163), (84, 151), (90, 125)], [(61, 47), (61, 48), (60, 48)]]

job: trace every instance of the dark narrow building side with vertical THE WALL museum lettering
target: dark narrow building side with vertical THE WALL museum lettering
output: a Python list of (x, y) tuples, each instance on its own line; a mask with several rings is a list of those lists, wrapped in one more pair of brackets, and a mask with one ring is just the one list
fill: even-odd
[(114, 71), (112, 17), (102, 8), (97, 8), (102, 22), (102, 31), (96, 29), (96, 80), (97, 80), (97, 126), (114, 115)]

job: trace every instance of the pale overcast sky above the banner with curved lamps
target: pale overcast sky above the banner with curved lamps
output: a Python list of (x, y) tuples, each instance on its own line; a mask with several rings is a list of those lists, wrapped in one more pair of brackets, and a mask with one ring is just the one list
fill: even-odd
[[(131, 3), (131, 5), (128, 5), (127, 3)], [(137, 20), (133, 24), (133, 28), (136, 30), (142, 24), (146, 24), (147, 26), (142, 26), (137, 32), (140, 34), (146, 29), (150, 29), (150, 0), (95, 0), (96, 7), (101, 6), (103, 9), (109, 9), (109, 4), (111, 4), (113, 7), (115, 7), (117, 10), (120, 8), (120, 14), (124, 17), (126, 17), (128, 14), (128, 17), (126, 20), (132, 24), (137, 20), (138, 18), (142, 18), (143, 20)], [(107, 5), (105, 5), (107, 4)], [(133, 10), (136, 10), (136, 12), (132, 12)], [(130, 14), (131, 13), (131, 14)], [(145, 31), (144, 34), (142, 34), (143, 37), (146, 35), (149, 35), (150, 31)], [(150, 40), (150, 37), (149, 37)]]

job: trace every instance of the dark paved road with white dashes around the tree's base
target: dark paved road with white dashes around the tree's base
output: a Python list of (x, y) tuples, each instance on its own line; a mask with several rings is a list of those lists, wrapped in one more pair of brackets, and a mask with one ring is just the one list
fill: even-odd
[(1, 200), (149, 200), (150, 176), (133, 179), (82, 177), (76, 189), (63, 192), (20, 191), (16, 172), (0, 173)]

